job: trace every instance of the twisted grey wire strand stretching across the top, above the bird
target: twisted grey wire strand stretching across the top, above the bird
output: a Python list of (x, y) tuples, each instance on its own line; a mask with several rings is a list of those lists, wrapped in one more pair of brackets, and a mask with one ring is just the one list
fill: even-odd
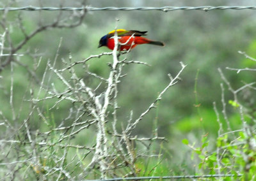
[(134, 11), (134, 10), (143, 10), (143, 11), (175, 11), (175, 10), (256, 10), (256, 6), (163, 6), (163, 7), (104, 7), (104, 8), (95, 8), (90, 6), (83, 7), (35, 7), (35, 6), (24, 6), (24, 7), (6, 7), (0, 8), (0, 11)]

